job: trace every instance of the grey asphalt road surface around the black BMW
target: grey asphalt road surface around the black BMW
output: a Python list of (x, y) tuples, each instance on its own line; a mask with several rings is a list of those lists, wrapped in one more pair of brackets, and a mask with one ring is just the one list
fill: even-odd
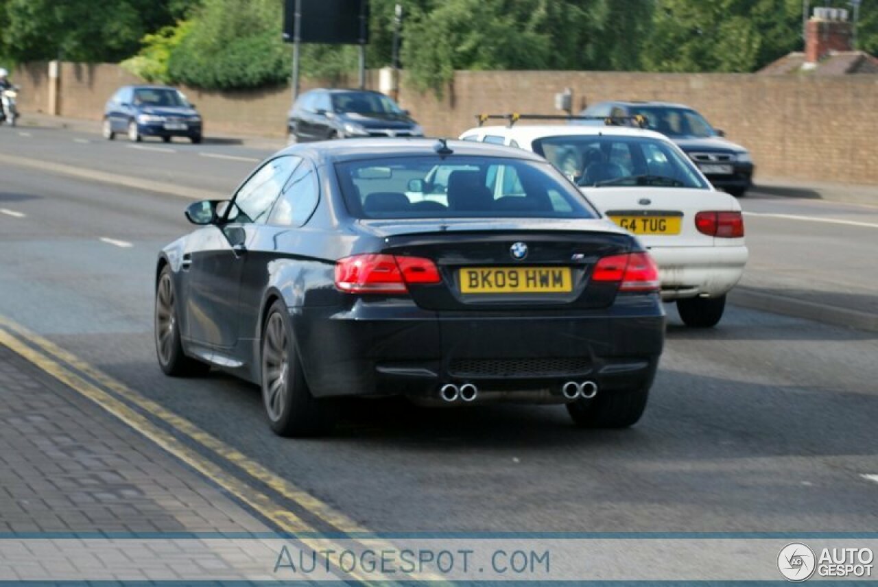
[[(267, 154), (183, 143), (155, 151), (94, 135), (2, 130), (0, 156), (159, 178), (218, 196), (254, 165), (230, 157)], [(220, 374), (169, 379), (155, 363), (155, 254), (189, 230), (183, 198), (2, 162), (0, 177), (0, 315), (371, 530), (878, 527), (878, 483), (867, 478), (878, 475), (874, 333), (738, 307), (715, 330), (695, 332), (669, 305), (666, 354), (633, 429), (580, 431), (558, 407), (429, 411), (382, 401), (352, 405), (331, 438), (282, 440), (266, 426), (255, 387)], [(824, 291), (874, 308), (869, 252), (878, 244), (878, 209), (759, 194), (744, 205), (752, 213), (745, 285)]]

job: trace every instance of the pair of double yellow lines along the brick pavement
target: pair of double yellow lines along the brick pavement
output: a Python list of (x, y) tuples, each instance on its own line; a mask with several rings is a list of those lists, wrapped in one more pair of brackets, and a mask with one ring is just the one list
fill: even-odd
[[(13, 334), (15, 334), (16, 336), (13, 336)], [(32, 349), (31, 347), (27, 346), (27, 344), (22, 342), (22, 340), (18, 340), (17, 337), (20, 337), (22, 340), (25, 340), (27, 343), (33, 345), (34, 347), (40, 348), (40, 350), (42, 350), (46, 354), (41, 354), (39, 351)], [(190, 440), (194, 440), (194, 443), (197, 446), (200, 445), (200, 447), (204, 448), (206, 452), (213, 453), (213, 455), (218, 457), (220, 461), (231, 463), (232, 465), (234, 465), (234, 467), (240, 469), (243, 473), (254, 479), (256, 482), (263, 483), (263, 485), (268, 487), (270, 490), (275, 491), (277, 494), (283, 496), (292, 503), (299, 505), (299, 507), (304, 509), (309, 514), (327, 523), (327, 525), (335, 527), (342, 533), (368, 534), (370, 536), (374, 535), (371, 530), (357, 524), (353, 519), (349, 519), (349, 517), (342, 512), (335, 511), (332, 506), (320, 501), (320, 499), (314, 497), (306, 490), (299, 489), (299, 487), (297, 487), (295, 484), (291, 483), (287, 479), (277, 476), (269, 469), (263, 467), (263, 465), (252, 461), (247, 455), (241, 453), (241, 451), (237, 450), (231, 445), (226, 444), (222, 440), (219, 440), (211, 433), (205, 432), (195, 424), (191, 423), (190, 420), (185, 419), (182, 416), (178, 416), (174, 412), (170, 412), (161, 404), (157, 404), (153, 400), (148, 399), (148, 397), (142, 396), (139, 392), (126, 386), (125, 383), (121, 383), (119, 382), (119, 380), (106, 375), (103, 371), (92, 367), (90, 363), (84, 362), (75, 354), (69, 353), (67, 350), (54, 344), (54, 342), (52, 342), (51, 340), (47, 340), (37, 333), (32, 333), (24, 326), (18, 325), (18, 323), (13, 322), (11, 319), (8, 319), (3, 315), (0, 315), (0, 344), (4, 344), (7, 347), (10, 347), (11, 350), (15, 351), (18, 354), (21, 354), (28, 361), (32, 362), (40, 369), (47, 371), (47, 373), (54, 376), (56, 379), (61, 381), (61, 383), (67, 384), (68, 387), (71, 387), (77, 392), (83, 393), (83, 390), (78, 389), (68, 382), (72, 381), (77, 384), (84, 383), (85, 385), (90, 386), (90, 388), (93, 388), (93, 390), (97, 390), (99, 394), (103, 394), (101, 397), (107, 397), (112, 400), (112, 402), (115, 402), (115, 404), (119, 404), (122, 408), (130, 411), (130, 408), (128, 408), (126, 404), (119, 401), (119, 399), (116, 399), (116, 397), (113, 397), (104, 390), (100, 390), (91, 383), (86, 382), (82, 377), (77, 376), (75, 373), (73, 373), (69, 369), (66, 369), (61, 364), (66, 363), (69, 367), (78, 370), (85, 376), (90, 377), (95, 383), (103, 386), (106, 390), (112, 391), (112, 393), (121, 397), (129, 404), (133, 404), (141, 411), (148, 413), (155, 419), (161, 420), (174, 432), (165, 433), (162, 428), (157, 428), (152, 425), (149, 420), (145, 420), (147, 425), (151, 426), (149, 428), (150, 432), (155, 432), (157, 430), (160, 439), (167, 437), (167, 439), (169, 439), (169, 443), (172, 444), (173, 442), (176, 442), (177, 444), (179, 444), (179, 441), (176, 440), (177, 437), (188, 437)], [(64, 379), (62, 379), (61, 377), (64, 377)], [(89, 390), (91, 391), (91, 389)], [(101, 405), (102, 407), (104, 407), (103, 404)], [(133, 412), (133, 414), (141, 419), (143, 418), (142, 416), (140, 416), (139, 412)], [(129, 424), (129, 426), (132, 425)], [(138, 424), (133, 427), (135, 428), (135, 430), (140, 431), (140, 428), (138, 426), (140, 425)], [(282, 440), (278, 439), (278, 441)], [(160, 446), (164, 447), (164, 445)], [(181, 446), (183, 447), (182, 449), (189, 450), (185, 445)], [(213, 469), (215, 465), (213, 465), (211, 461), (208, 461), (204, 459), (204, 457), (198, 455), (198, 453), (195, 454), (194, 458), (199, 460), (199, 462), (204, 461), (205, 470), (210, 470), (212, 474), (217, 475), (216, 478), (210, 475), (208, 475), (208, 477), (211, 478), (215, 483), (219, 483), (220, 486), (225, 487), (223, 483), (226, 482), (226, 477), (228, 476), (228, 474), (224, 470)], [(196, 467), (196, 469), (198, 468)], [(202, 474), (204, 475), (207, 475), (202, 471), (202, 469), (198, 469), (198, 471), (202, 472)], [(286, 527), (292, 525), (305, 528), (296, 531), (284, 531), (307, 532), (315, 534), (317, 533), (317, 530), (315, 530), (311, 526), (308, 526), (306, 522), (303, 519), (299, 518), (294, 512), (284, 511), (283, 508), (280, 508), (279, 505), (270, 502), (270, 497), (264, 496), (258, 490), (251, 488), (246, 483), (238, 481), (237, 478), (234, 476), (229, 477), (230, 480), (228, 481), (228, 483), (240, 483), (243, 487), (251, 490), (254, 497), (250, 499), (241, 499), (242, 501), (250, 505), (250, 507), (252, 507), (256, 512), (262, 514), (263, 517), (277, 523), (278, 527)], [(262, 498), (269, 500), (269, 502), (263, 504), (264, 507), (259, 506), (262, 504)], [(253, 505), (251, 501), (256, 503), (257, 505)], [(320, 547), (321, 550), (325, 550), (327, 548), (327, 545), (333, 545), (333, 543), (327, 542), (327, 539), (320, 539), (320, 542), (314, 543), (313, 540), (309, 540), (304, 536), (299, 536), (298, 540), (306, 544), (306, 546), (308, 546), (309, 548)], [(351, 536), (350, 540), (355, 540), (366, 548), (372, 548), (375, 550), (378, 550), (379, 548), (396, 549), (392, 545), (392, 543), (380, 538), (356, 538), (354, 536)], [(335, 545), (335, 548), (337, 548), (337, 551), (339, 553), (341, 553), (343, 550), (342, 547), (337, 545)], [(351, 573), (349, 573), (349, 575), (353, 576), (353, 574)], [(407, 578), (414, 579), (415, 581), (444, 581), (442, 577), (431, 575), (426, 572), (410, 573), (406, 574), (406, 576)], [(438, 587), (438, 583), (436, 587)]]

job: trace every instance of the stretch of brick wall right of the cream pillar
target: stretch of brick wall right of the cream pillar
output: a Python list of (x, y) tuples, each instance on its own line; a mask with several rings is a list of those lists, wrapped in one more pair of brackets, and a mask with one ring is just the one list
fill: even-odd
[(878, 75), (466, 71), (442, 100), (405, 83), (399, 100), (429, 133), (458, 136), (479, 112), (558, 113), (565, 88), (575, 110), (586, 100), (689, 104), (752, 151), (758, 176), (878, 184)]

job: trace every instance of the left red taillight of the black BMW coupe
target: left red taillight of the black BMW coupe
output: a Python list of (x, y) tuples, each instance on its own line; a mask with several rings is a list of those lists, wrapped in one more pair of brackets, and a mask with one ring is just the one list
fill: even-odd
[(335, 287), (346, 293), (407, 293), (408, 283), (440, 283), (435, 263), (421, 257), (355, 254), (335, 262)]

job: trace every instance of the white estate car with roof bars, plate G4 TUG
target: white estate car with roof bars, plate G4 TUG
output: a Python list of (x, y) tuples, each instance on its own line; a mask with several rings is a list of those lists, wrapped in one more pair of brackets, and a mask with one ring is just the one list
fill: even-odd
[[(716, 326), (725, 295), (744, 273), (738, 201), (710, 185), (658, 132), (613, 125), (479, 126), (462, 140), (543, 155), (603, 214), (637, 235), (659, 265), (661, 295), (687, 326)], [(508, 178), (506, 193), (514, 193)]]

